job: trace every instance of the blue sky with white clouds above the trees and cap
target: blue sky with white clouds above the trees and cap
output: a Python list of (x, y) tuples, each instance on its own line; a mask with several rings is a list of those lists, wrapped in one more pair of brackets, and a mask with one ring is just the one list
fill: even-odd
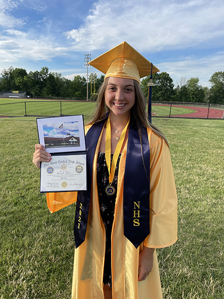
[(84, 54), (124, 40), (175, 85), (198, 77), (210, 87), (224, 71), (224, 0), (0, 0), (0, 73), (46, 66), (86, 77)]

